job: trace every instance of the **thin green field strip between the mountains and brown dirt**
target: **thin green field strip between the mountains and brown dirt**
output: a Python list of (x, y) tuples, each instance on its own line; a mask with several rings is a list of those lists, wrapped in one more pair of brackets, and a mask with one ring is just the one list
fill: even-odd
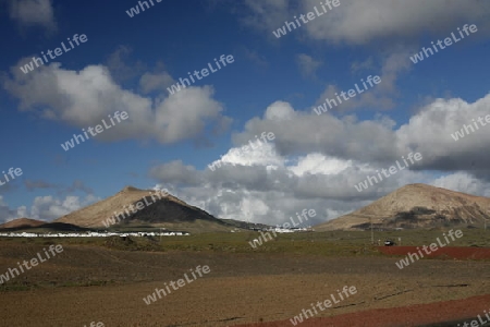
[[(437, 238), (443, 240), (444, 230), (401, 230), (373, 231), (375, 244), (384, 240), (393, 240), (397, 245), (428, 245)], [(490, 247), (490, 230), (462, 229), (463, 237), (451, 242), (449, 246), (482, 246)], [(264, 232), (266, 233), (266, 232)], [(289, 253), (313, 254), (327, 256), (377, 255), (371, 246), (370, 231), (330, 231), (330, 232), (268, 232), (272, 240), (253, 249), (249, 244), (261, 235), (260, 232), (235, 233), (201, 233), (188, 237), (152, 237), (152, 238), (2, 238), (1, 241), (22, 243), (60, 243), (60, 244), (94, 244), (126, 251), (189, 251), (189, 252), (233, 252), (233, 253)], [(399, 241), (401, 239), (401, 244)]]

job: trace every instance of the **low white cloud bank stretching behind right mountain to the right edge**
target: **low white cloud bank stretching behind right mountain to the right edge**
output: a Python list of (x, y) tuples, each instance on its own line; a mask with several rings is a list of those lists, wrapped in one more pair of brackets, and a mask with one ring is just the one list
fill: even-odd
[[(306, 225), (316, 225), (358, 209), (409, 183), (424, 182), (476, 195), (490, 195), (490, 182), (478, 181), (467, 173), (434, 179), (427, 172), (408, 169), (359, 193), (355, 184), (394, 162), (384, 166), (365, 164), (321, 154), (281, 157), (275, 152), (273, 160), (261, 161), (254, 159), (256, 154), (250, 154), (250, 160), (245, 161), (233, 157), (233, 150), (226, 153), (229, 165), (215, 171), (192, 167), (193, 175), (199, 183), (181, 183), (176, 196), (197, 204), (219, 218), (269, 225), (281, 225), (289, 217), (295, 217), (295, 213), (313, 208), (317, 217)], [(274, 161), (274, 169), (268, 169), (270, 161)], [(160, 185), (173, 187), (164, 174), (161, 179), (155, 178)]]

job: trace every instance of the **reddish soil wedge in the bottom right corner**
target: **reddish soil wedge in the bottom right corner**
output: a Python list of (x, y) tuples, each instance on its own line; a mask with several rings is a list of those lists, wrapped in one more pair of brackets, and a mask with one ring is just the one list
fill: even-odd
[[(465, 300), (445, 301), (430, 304), (416, 304), (394, 308), (376, 308), (338, 315), (328, 318), (309, 318), (302, 327), (408, 327), (408, 326), (456, 326), (456, 320), (467, 322), (477, 319), (478, 315), (486, 322), (483, 311), (490, 308), (490, 295), (473, 296)], [(446, 323), (448, 322), (448, 323)], [(478, 320), (477, 320), (478, 322)], [(446, 323), (446, 324), (442, 324)], [(238, 325), (235, 327), (279, 327), (293, 326), (290, 320)], [(480, 326), (478, 324), (477, 326)]]

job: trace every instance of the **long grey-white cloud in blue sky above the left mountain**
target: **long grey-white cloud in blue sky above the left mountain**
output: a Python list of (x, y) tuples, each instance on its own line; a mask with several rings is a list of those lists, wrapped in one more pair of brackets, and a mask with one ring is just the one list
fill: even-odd
[[(211, 86), (186, 87), (169, 97), (152, 98), (124, 89), (105, 65), (71, 71), (62, 69), (60, 63), (51, 63), (29, 74), (22, 73), (19, 66), (11, 71), (13, 77), (4, 81), (3, 86), (19, 98), (20, 110), (36, 111), (44, 118), (81, 129), (94, 126), (115, 111), (128, 113), (128, 119), (121, 123), (123, 128), (113, 126), (95, 136), (98, 140), (203, 142), (208, 140), (205, 128), (223, 131), (231, 122), (221, 113), (223, 105), (212, 98)], [(145, 89), (154, 89), (159, 82), (145, 76)]]

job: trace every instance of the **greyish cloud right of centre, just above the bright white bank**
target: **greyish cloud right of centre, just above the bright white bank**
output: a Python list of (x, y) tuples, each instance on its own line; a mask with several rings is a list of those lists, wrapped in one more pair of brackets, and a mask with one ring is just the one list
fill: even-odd
[(305, 113), (294, 110), (286, 102), (270, 105), (264, 118), (254, 118), (236, 140), (250, 140), (262, 131), (275, 135), (275, 147), (280, 155), (304, 155), (319, 152), (345, 159), (392, 159), (394, 121), (380, 117), (372, 121), (358, 121), (355, 116), (335, 118), (323, 113)]

